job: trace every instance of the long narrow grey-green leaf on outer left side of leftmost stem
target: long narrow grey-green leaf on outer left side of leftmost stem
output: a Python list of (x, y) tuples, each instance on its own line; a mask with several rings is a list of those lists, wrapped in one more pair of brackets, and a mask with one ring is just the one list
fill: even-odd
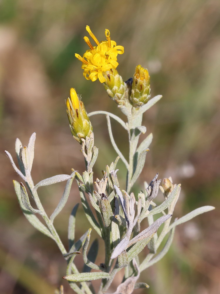
[(18, 202), (21, 206), (21, 210), (23, 211), (24, 216), (27, 218), (27, 220), (31, 223), (31, 225), (33, 225), (33, 227), (37, 230), (39, 230), (41, 233), (47, 235), (48, 237), (53, 238), (53, 235), (50, 233), (50, 231), (48, 230), (48, 228), (45, 227), (45, 225), (43, 225), (43, 223), (40, 222), (40, 220), (29, 210), (27, 210), (22, 201), (21, 201), (21, 188), (20, 188), (20, 184), (17, 181), (13, 181), (14, 183), (14, 188), (15, 188), (15, 192), (16, 195), (18, 197)]

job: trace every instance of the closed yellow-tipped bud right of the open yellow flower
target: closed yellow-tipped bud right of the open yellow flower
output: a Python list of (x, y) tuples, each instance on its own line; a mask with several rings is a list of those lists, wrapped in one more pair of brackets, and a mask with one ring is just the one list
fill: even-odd
[(134, 107), (140, 107), (148, 102), (150, 98), (150, 76), (147, 69), (140, 64), (136, 66), (132, 88), (131, 103)]

